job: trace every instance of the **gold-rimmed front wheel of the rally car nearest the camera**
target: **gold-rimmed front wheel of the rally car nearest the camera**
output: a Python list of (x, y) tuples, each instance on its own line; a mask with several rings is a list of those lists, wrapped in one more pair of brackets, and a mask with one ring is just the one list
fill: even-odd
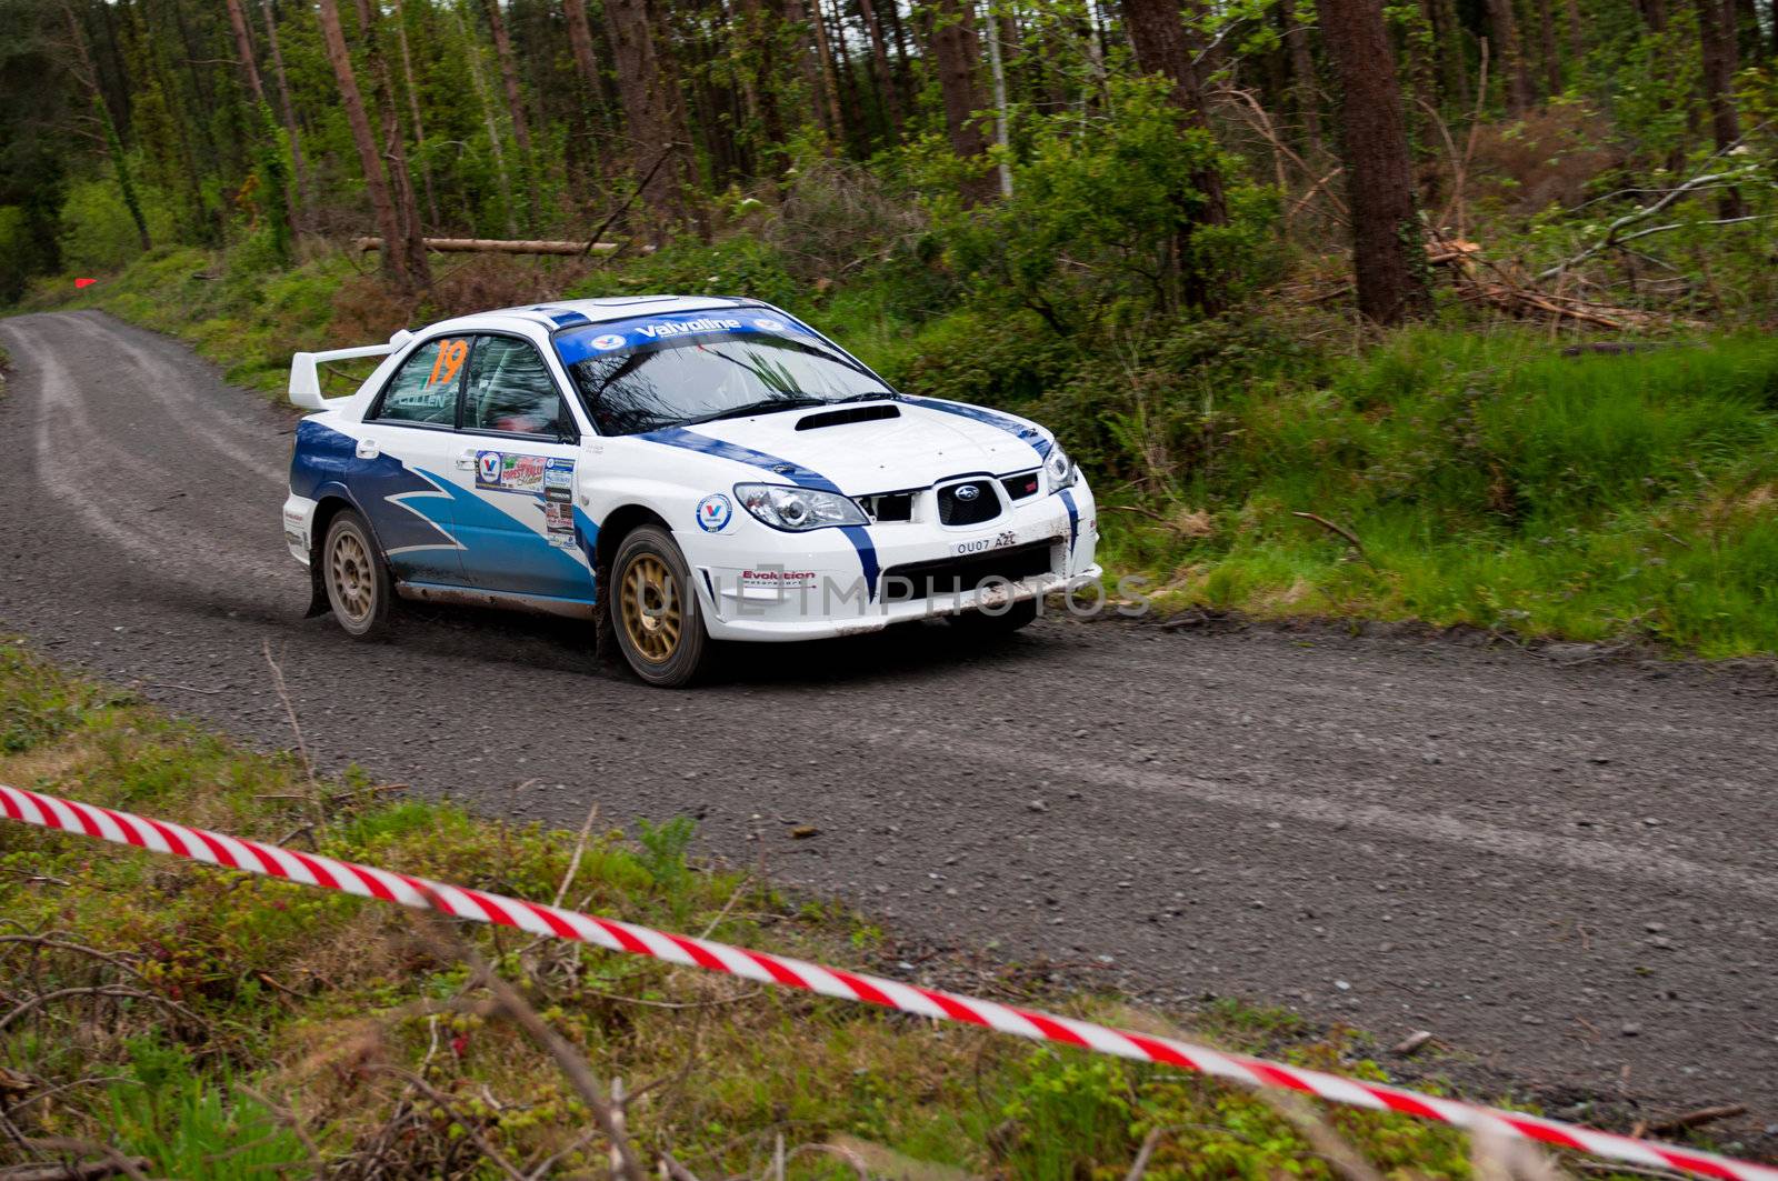
[(658, 688), (685, 688), (704, 671), (709, 633), (692, 569), (660, 525), (640, 525), (612, 558), (606, 614), (631, 672)]

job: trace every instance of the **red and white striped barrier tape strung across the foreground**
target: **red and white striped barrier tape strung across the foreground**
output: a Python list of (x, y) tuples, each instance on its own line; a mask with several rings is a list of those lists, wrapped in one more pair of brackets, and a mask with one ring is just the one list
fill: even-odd
[(133, 816), (5, 784), (0, 784), (0, 811), (21, 823), (80, 832), (116, 845), (135, 845), (137, 848), (172, 854), (174, 857), (281, 877), (302, 882), (304, 886), (336, 889), (364, 898), (380, 898), (405, 907), (427, 909), (428, 905), (436, 905), (455, 918), (475, 920), (478, 923), (500, 923), (537, 936), (580, 939), (612, 952), (651, 955), (686, 968), (704, 968), (763, 984), (805, 989), (821, 996), (882, 1005), (884, 1008), (917, 1014), (935, 1021), (980, 1024), (1031, 1040), (1061, 1042), (1079, 1049), (1117, 1055), (1118, 1058), (1200, 1071), (1248, 1087), (1294, 1090), (1351, 1106), (1417, 1115), (1419, 1119), (1440, 1124), (1534, 1140), (1634, 1165), (1680, 1169), (1705, 1177), (1725, 1177), (1726, 1181), (1778, 1181), (1778, 1169), (1767, 1165), (1755, 1165), (1710, 1153), (1694, 1153), (1654, 1140), (1636, 1140), (1575, 1124), (1561, 1124), (1520, 1112), (1470, 1106), (1453, 1099), (1401, 1090), (1399, 1087), (1383, 1087), (1339, 1078), (1337, 1074), (1323, 1074), (1321, 1071), (1305, 1071), (1294, 1065), (1205, 1049), (1204, 1046), (1191, 1046), (1165, 1037), (1129, 1033), (1072, 1017), (1058, 1017), (1029, 1008), (958, 996), (957, 992), (921, 989), (910, 984), (884, 980), (882, 976), (864, 976), (782, 955), (749, 952), (747, 948), (711, 943), (709, 939), (674, 936), (649, 927), (539, 905), (519, 898), (505, 898), (480, 889), (446, 886), (444, 882), (373, 870), (316, 854), (300, 854), (293, 848), (261, 845), (220, 832), (206, 832), (204, 829), (188, 829), (165, 820), (149, 820), (148, 816)]

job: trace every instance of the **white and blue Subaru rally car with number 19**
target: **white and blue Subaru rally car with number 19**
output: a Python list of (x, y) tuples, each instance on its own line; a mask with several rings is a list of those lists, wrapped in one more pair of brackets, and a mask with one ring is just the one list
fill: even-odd
[[(343, 398), (318, 365), (382, 356)], [(396, 598), (583, 617), (653, 685), (711, 640), (948, 615), (1029, 623), (1099, 574), (1086, 480), (1054, 436), (898, 393), (749, 299), (507, 308), (299, 352), (284, 502), (311, 614), (388, 633)]]

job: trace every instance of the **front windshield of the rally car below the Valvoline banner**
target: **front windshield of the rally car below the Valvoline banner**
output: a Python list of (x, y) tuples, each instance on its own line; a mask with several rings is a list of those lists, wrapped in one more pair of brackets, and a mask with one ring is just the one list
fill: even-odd
[(763, 333), (704, 333), (612, 349), (571, 363), (569, 374), (601, 434), (894, 395), (875, 374), (816, 340)]

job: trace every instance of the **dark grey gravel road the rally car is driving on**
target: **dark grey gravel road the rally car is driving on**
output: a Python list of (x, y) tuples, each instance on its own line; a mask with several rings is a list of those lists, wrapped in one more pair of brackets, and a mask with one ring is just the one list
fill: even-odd
[[(942, 624), (647, 690), (565, 624), (302, 619), (293, 416), (101, 313), (0, 320), (0, 628), (331, 765), (711, 854), (1163, 1003), (1433, 1030), (1529, 1087), (1778, 1124), (1778, 683), (1328, 630)], [(820, 834), (793, 840), (795, 825)]]

